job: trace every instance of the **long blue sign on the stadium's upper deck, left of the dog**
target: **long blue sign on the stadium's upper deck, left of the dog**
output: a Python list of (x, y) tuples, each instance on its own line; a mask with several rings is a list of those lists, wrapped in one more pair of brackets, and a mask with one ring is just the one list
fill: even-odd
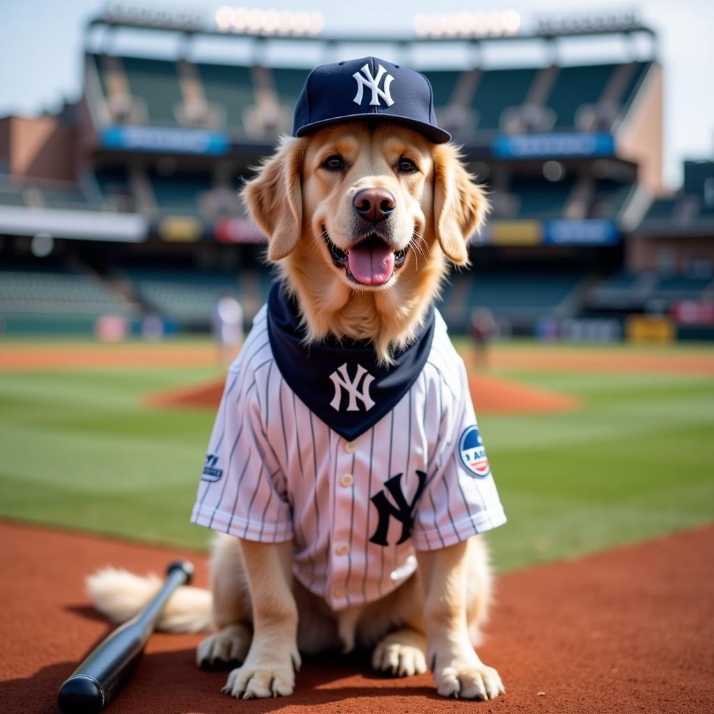
[(99, 135), (105, 149), (221, 156), (231, 149), (225, 131), (178, 126), (108, 126)]

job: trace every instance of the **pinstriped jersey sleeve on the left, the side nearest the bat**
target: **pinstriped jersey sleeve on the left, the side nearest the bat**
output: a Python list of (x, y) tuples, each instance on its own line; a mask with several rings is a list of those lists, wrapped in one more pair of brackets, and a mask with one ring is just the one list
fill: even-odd
[(203, 463), (191, 522), (246, 540), (291, 540), (285, 478), (263, 429), (256, 382), (228, 373)]

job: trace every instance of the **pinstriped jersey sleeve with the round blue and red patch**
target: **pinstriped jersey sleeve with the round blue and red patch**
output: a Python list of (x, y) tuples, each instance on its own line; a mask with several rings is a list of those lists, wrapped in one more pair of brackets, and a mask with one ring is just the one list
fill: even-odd
[(442, 426), (415, 513), (416, 550), (436, 550), (506, 523), (493, 482), (463, 361), (450, 386), (441, 381)]

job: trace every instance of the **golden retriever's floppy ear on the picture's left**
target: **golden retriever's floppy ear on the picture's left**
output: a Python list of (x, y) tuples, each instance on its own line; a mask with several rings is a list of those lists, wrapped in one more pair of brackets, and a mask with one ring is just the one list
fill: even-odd
[(248, 213), (268, 236), (268, 259), (279, 261), (298, 243), (303, 224), (303, 140), (283, 137), (278, 149), (241, 191)]

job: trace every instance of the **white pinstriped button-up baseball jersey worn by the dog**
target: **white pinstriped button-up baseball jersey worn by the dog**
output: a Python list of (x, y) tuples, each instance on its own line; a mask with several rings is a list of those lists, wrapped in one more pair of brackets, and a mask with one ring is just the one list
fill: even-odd
[(294, 540), (296, 578), (333, 610), (397, 588), (416, 568), (415, 550), (505, 523), (466, 368), (438, 311), (416, 381), (347, 441), (281, 376), (263, 306), (228, 372), (191, 521), (263, 543)]

